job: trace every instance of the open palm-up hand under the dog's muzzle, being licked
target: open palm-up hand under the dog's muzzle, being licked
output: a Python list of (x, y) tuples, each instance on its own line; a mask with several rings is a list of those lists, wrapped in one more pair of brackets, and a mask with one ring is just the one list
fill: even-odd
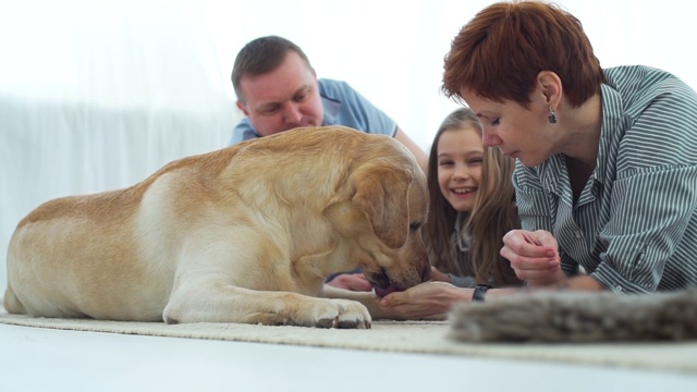
[(468, 301), (472, 293), (472, 289), (430, 281), (386, 295), (378, 307), (395, 319), (444, 319), (455, 302)]

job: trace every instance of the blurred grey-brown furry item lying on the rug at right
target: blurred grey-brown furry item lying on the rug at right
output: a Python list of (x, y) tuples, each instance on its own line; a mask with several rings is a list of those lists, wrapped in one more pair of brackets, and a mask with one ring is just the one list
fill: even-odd
[(621, 342), (697, 339), (697, 289), (645, 295), (536, 292), (458, 304), (452, 339), (465, 342)]

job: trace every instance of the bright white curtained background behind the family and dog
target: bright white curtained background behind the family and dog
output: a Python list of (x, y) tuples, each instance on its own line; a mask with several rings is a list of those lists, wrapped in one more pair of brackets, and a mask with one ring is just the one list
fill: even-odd
[[(492, 1), (0, 0), (0, 294), (16, 223), (50, 198), (134, 184), (224, 147), (241, 118), (230, 70), (268, 34), (350, 82), (428, 149), (455, 103), (450, 41)], [(697, 86), (692, 2), (560, 0), (603, 66), (644, 63)]]

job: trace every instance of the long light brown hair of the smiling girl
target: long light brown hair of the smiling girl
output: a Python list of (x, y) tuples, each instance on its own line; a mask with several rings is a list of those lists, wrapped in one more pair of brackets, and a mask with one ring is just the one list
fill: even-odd
[(456, 257), (460, 252), (451, 252), (457, 210), (445, 199), (438, 183), (438, 140), (445, 131), (465, 126), (478, 130), (479, 134), (482, 132), (481, 123), (472, 110), (456, 109), (441, 123), (430, 150), (427, 173), (429, 218), (424, 235), (431, 264), (443, 272), (462, 271), (475, 277), (478, 283), (521, 284), (509, 260), (499, 255), (503, 235), (519, 226), (511, 182), (515, 161), (496, 147), (485, 147), (479, 192), (464, 228), (470, 235), (467, 257), (462, 259)]

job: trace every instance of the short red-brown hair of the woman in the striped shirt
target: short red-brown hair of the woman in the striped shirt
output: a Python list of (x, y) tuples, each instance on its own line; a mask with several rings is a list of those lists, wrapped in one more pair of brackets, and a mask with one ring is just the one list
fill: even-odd
[(447, 97), (463, 89), (528, 107), (541, 71), (554, 72), (572, 106), (600, 93), (604, 74), (580, 22), (554, 4), (499, 2), (481, 10), (455, 36), (444, 59)]

